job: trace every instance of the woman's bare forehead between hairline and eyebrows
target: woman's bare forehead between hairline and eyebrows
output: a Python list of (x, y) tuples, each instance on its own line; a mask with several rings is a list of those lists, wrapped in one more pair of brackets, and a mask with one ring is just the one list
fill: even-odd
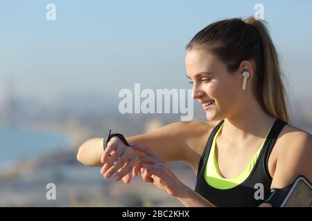
[(223, 66), (215, 55), (195, 49), (187, 51), (185, 64), (188, 75), (196, 75), (196, 73), (204, 71), (214, 73), (216, 68)]

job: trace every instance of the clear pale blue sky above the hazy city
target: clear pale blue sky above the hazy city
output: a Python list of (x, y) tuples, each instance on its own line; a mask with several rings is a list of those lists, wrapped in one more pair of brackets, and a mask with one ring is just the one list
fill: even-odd
[[(291, 94), (311, 98), (312, 1), (0, 1), (0, 99), (53, 104), (68, 94), (118, 98), (121, 88), (191, 88), (184, 48), (209, 23), (262, 3)], [(46, 20), (55, 3), (56, 21)]]

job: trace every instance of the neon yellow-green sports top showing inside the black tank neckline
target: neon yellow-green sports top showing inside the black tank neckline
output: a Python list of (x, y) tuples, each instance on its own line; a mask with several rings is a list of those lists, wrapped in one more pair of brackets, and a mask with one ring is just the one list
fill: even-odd
[(216, 160), (216, 151), (215, 151), (216, 138), (218, 137), (218, 134), (223, 128), (223, 124), (218, 129), (216, 135), (214, 136), (214, 140), (211, 144), (211, 150), (210, 150), (209, 157), (207, 160), (207, 166), (205, 166), (205, 170), (204, 170), (204, 178), (210, 186), (216, 189), (232, 189), (235, 186), (238, 186), (239, 184), (244, 182), (248, 178), (250, 173), (252, 172), (252, 169), (254, 168), (254, 165), (257, 162), (259, 154), (263, 148), (263, 144), (266, 142), (266, 138), (268, 137), (268, 133), (270, 132), (272, 126), (270, 130), (268, 131), (268, 133), (266, 133), (266, 138), (262, 142), (259, 150), (257, 151), (257, 153), (254, 154), (254, 156), (252, 157), (248, 165), (245, 167), (245, 169), (236, 177), (226, 179), (220, 173), (218, 162)]

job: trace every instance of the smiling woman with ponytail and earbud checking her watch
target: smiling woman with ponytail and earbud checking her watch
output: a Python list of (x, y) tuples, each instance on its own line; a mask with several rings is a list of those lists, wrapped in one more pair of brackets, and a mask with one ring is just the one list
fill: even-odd
[[(270, 189), (297, 175), (312, 180), (312, 136), (290, 125), (277, 52), (261, 21), (211, 23), (187, 45), (186, 68), (209, 122), (126, 137), (132, 147), (112, 137), (105, 151), (97, 137), (80, 146), (78, 160), (125, 183), (141, 173), (185, 206), (271, 206), (263, 202)], [(175, 177), (171, 161), (191, 166), (195, 191)]]

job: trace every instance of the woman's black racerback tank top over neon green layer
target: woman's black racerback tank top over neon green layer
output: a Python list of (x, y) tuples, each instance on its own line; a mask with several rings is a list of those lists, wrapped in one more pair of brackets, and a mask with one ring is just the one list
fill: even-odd
[[(246, 180), (232, 189), (216, 189), (206, 182), (203, 173), (207, 164), (214, 136), (223, 122), (224, 119), (218, 123), (209, 135), (205, 150), (202, 153), (202, 157), (200, 157), (195, 191), (215, 206), (259, 206), (263, 200), (268, 198), (270, 193), (270, 185), (272, 183), (272, 177), (268, 171), (268, 159), (270, 157), (270, 153), (279, 133), (281, 132), (281, 129), (287, 123), (278, 118), (275, 120), (263, 144), (263, 148), (261, 149), (257, 162)], [(255, 187), (255, 184), (263, 184), (263, 199), (256, 200), (254, 197), (256, 191), (259, 189), (258, 186)]]

